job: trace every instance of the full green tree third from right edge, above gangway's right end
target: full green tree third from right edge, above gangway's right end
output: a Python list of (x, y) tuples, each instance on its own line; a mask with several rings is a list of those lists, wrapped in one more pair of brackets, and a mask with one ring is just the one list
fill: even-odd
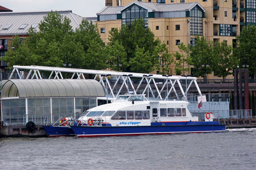
[(212, 73), (216, 65), (216, 53), (214, 53), (213, 42), (205, 39), (204, 36), (196, 36), (195, 46), (189, 46), (191, 64), (194, 71), (193, 76), (204, 76), (207, 80), (207, 74)]

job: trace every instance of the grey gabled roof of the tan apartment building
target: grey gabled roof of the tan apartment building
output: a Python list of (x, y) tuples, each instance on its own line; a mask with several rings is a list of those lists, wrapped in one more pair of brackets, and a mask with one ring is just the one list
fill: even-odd
[(125, 10), (127, 7), (133, 4), (137, 4), (143, 8), (146, 8), (148, 12), (172, 12), (172, 11), (187, 11), (192, 10), (196, 5), (200, 6), (203, 11), (205, 9), (198, 2), (190, 2), (190, 3), (151, 3), (151, 2), (137, 2), (133, 1), (129, 5), (126, 6), (118, 6), (118, 7), (104, 7), (101, 11), (97, 13), (97, 15), (111, 15), (111, 14), (121, 14), (122, 10)]

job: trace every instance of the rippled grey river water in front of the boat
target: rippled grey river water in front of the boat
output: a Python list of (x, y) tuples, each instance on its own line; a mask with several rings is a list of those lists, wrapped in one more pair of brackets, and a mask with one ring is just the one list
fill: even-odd
[(256, 169), (256, 129), (100, 138), (2, 138), (0, 169)]

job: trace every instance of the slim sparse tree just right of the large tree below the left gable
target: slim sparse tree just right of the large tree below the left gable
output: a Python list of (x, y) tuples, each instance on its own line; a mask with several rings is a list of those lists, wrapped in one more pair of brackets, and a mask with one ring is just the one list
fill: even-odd
[(158, 44), (158, 46), (156, 46), (155, 49), (155, 55), (156, 58), (159, 58), (159, 65), (157, 66), (157, 68), (160, 71), (160, 74), (170, 74), (169, 70), (170, 70), (170, 65), (172, 62), (174, 62), (174, 58), (172, 57), (172, 55), (168, 52), (168, 47), (166, 44), (162, 43), (162, 44)]

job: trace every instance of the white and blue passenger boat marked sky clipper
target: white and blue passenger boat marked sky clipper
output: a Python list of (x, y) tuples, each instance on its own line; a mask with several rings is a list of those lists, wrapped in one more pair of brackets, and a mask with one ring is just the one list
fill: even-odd
[(110, 104), (89, 109), (71, 128), (77, 137), (204, 133), (225, 131), (225, 125), (206, 113), (199, 121), (184, 100), (147, 100), (144, 95), (120, 95)]

